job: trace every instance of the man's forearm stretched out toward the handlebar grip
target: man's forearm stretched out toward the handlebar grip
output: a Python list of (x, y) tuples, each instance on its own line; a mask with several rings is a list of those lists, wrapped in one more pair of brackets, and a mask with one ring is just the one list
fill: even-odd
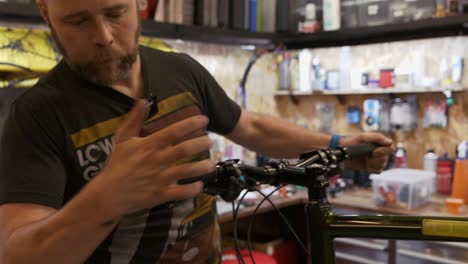
[(305, 151), (328, 147), (331, 139), (330, 135), (301, 128), (265, 114), (243, 112), (242, 115), (240, 122), (245, 124), (236, 127), (234, 133), (228, 137), (271, 157), (297, 158)]

